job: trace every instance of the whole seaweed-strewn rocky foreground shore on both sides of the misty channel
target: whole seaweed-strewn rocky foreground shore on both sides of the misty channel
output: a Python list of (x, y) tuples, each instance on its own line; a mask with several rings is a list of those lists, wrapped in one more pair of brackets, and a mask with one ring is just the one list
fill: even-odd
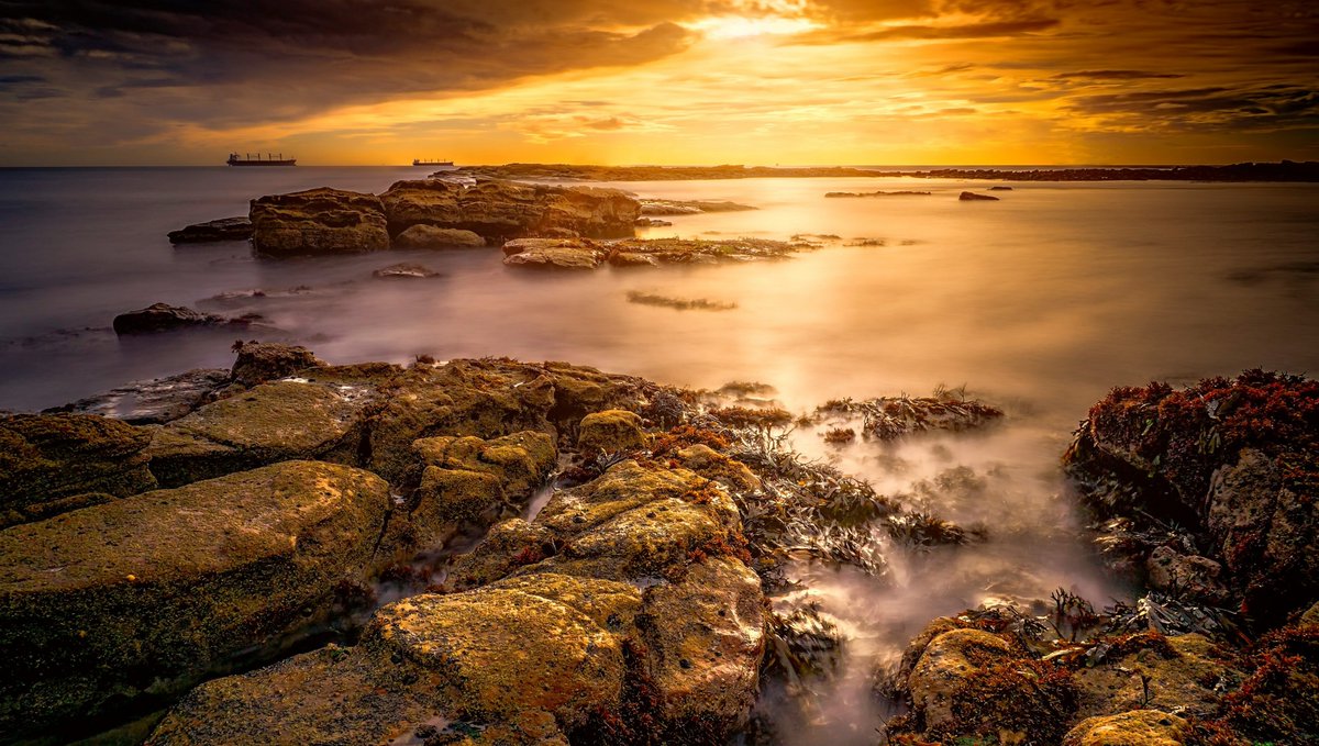
[[(743, 389), (255, 343), (199, 373), (153, 424), (0, 419), (7, 742), (154, 712), (125, 742), (721, 743), (762, 676), (827, 668), (811, 610), (768, 605), (789, 556), (882, 571), (873, 536), (971, 540), (781, 449), (794, 416)], [(1067, 468), (1149, 594), (935, 619), (877, 677), (910, 708), (889, 742), (1315, 738), (1316, 402), (1249, 372), (1096, 405)], [(1001, 413), (802, 422), (839, 416), (892, 439)], [(460, 535), (483, 538), (435, 555)]]

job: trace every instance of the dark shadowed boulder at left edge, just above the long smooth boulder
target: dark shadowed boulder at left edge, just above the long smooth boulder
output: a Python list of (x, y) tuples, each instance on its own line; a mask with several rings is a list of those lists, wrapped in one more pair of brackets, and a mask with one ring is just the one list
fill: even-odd
[(96, 415), (0, 416), (0, 526), (156, 489), (150, 438)]

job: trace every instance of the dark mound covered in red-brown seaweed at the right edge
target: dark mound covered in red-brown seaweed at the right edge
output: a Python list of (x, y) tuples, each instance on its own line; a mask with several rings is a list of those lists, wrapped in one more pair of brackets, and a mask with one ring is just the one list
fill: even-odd
[[(1115, 559), (1148, 567), (1161, 546), (1190, 558), (1187, 584), (1275, 627), (1319, 596), (1319, 382), (1248, 370), (1174, 390), (1119, 387), (1096, 403), (1064, 456)], [(1170, 535), (1163, 526), (1182, 529)], [(1154, 559), (1155, 565), (1158, 559)], [(1212, 577), (1212, 565), (1223, 568)], [(1166, 573), (1169, 580), (1178, 573)], [(1158, 581), (1157, 573), (1150, 580)]]

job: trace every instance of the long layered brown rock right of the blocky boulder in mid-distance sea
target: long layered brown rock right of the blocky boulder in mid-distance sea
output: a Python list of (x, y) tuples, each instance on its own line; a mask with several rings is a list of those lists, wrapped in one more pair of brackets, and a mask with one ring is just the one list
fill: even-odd
[(380, 199), (389, 233), (400, 237), (414, 225), (458, 228), (497, 241), (565, 231), (621, 237), (633, 235), (633, 221), (641, 214), (640, 203), (619, 190), (504, 181), (474, 187), (442, 179), (402, 181)]

